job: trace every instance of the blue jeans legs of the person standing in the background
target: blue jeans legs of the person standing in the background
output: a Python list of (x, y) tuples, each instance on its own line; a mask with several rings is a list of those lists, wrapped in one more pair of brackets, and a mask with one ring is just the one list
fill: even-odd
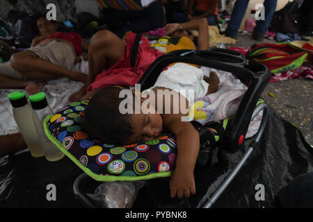
[[(238, 29), (241, 25), (241, 20), (246, 13), (248, 8), (249, 0), (236, 0), (234, 8), (232, 9), (232, 15), (230, 22), (227, 25), (225, 34), (230, 37), (236, 37)], [(257, 20), (257, 24), (254, 33), (264, 35), (271, 24), (273, 14), (277, 5), (277, 0), (265, 0), (264, 1), (264, 20)]]

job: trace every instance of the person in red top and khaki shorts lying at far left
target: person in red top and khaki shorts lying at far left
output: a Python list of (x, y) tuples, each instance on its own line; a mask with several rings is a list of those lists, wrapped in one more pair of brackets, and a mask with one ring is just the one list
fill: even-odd
[(60, 77), (86, 83), (87, 75), (72, 69), (81, 53), (88, 52), (88, 42), (78, 33), (58, 32), (58, 24), (44, 16), (38, 16), (36, 24), (39, 35), (31, 47), (0, 63), (0, 89), (26, 89), (35, 94), (46, 80)]

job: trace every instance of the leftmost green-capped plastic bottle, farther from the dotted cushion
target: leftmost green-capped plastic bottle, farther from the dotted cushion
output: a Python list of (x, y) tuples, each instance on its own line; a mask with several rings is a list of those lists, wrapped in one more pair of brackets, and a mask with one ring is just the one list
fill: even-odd
[(40, 145), (39, 135), (33, 123), (33, 110), (24, 92), (11, 92), (8, 99), (13, 106), (13, 116), (22, 133), (23, 139), (33, 157), (45, 155)]

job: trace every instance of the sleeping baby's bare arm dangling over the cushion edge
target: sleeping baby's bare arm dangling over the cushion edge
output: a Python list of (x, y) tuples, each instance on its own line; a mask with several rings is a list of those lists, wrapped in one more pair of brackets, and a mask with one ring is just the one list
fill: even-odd
[[(182, 117), (188, 117), (188, 100), (175, 90), (170, 89), (169, 91), (163, 91), (163, 94), (159, 94), (158, 89), (166, 88), (154, 87), (152, 89), (157, 95), (154, 103), (157, 104), (156, 107), (159, 108), (160, 104), (158, 102), (163, 103), (161, 104), (163, 108), (161, 110), (163, 128), (177, 135), (177, 156), (175, 170), (170, 178), (170, 196), (172, 198), (175, 198), (176, 195), (179, 198), (189, 197), (190, 194), (195, 194), (193, 169), (200, 148), (199, 133), (189, 121), (182, 121), (184, 119)], [(162, 97), (160, 98), (160, 96)], [(175, 101), (175, 98), (179, 103)], [(168, 105), (170, 105), (170, 112), (166, 110)], [(175, 108), (178, 108), (178, 110)], [(186, 109), (187, 113), (184, 113)]]

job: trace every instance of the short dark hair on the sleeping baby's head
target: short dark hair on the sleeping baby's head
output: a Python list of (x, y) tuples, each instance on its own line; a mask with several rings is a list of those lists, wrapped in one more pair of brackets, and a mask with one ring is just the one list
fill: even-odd
[(121, 114), (118, 87), (99, 89), (90, 99), (83, 117), (82, 128), (90, 137), (107, 144), (125, 145), (126, 139), (133, 135), (129, 114)]

